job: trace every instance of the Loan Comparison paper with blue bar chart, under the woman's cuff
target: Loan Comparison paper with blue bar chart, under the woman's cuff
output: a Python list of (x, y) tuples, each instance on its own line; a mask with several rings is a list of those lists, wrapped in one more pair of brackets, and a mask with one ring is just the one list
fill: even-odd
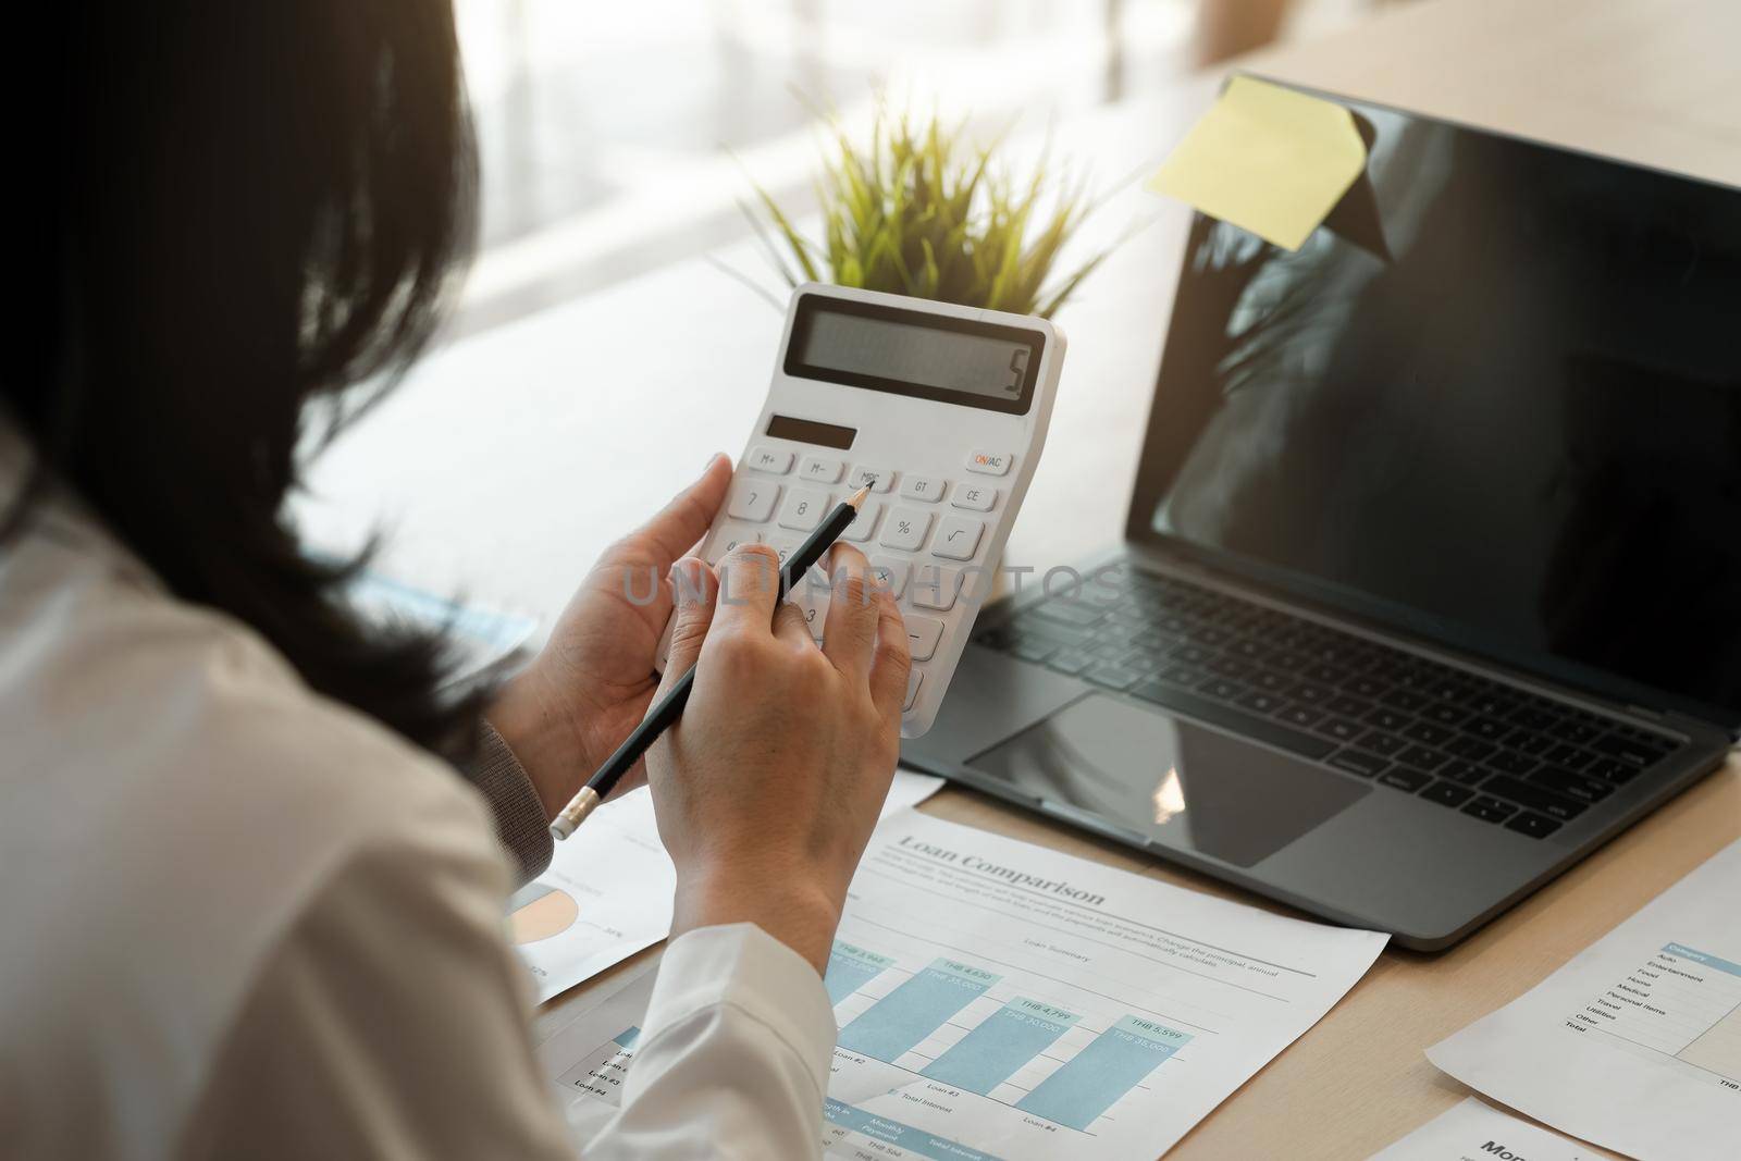
[[(1384, 942), (900, 811), (865, 851), (823, 980), (841, 1027), (827, 1154), (1156, 1156)], [(653, 978), (540, 1046), (581, 1138), (616, 1107)]]

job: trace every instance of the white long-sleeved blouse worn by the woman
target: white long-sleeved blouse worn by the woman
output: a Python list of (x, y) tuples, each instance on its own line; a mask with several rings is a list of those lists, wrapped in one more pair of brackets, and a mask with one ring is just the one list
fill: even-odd
[[(0, 510), (24, 470), (0, 423)], [(10, 1158), (571, 1158), (449, 768), (172, 599), (77, 503), (0, 547)], [(759, 928), (667, 949), (587, 1158), (799, 1158), (834, 1017)]]

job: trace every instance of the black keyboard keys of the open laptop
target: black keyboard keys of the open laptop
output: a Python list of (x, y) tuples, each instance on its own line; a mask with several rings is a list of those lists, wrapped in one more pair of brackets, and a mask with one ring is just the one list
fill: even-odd
[(1680, 745), (1128, 567), (1027, 606), (975, 641), (1532, 839), (1600, 809)]

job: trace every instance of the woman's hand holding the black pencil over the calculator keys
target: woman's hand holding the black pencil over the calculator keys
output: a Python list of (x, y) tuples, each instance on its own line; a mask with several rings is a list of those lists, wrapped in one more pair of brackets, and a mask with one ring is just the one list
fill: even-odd
[[(825, 646), (749, 545), (684, 560), (667, 684), (696, 663), (682, 719), (648, 750), (677, 865), (672, 935), (756, 923), (822, 971), (846, 886), (900, 754), (907, 630), (864, 554), (836, 545)], [(698, 658), (698, 661), (696, 661)]]

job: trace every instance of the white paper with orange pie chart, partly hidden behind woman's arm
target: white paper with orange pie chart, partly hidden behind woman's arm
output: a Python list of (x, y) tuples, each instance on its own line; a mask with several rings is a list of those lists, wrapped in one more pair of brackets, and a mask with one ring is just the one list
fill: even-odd
[[(883, 815), (923, 802), (940, 785), (895, 771)], [(663, 940), (676, 886), (644, 787), (601, 806), (557, 842), (550, 867), (508, 900), (508, 938), (533, 973), (538, 1003)]]

